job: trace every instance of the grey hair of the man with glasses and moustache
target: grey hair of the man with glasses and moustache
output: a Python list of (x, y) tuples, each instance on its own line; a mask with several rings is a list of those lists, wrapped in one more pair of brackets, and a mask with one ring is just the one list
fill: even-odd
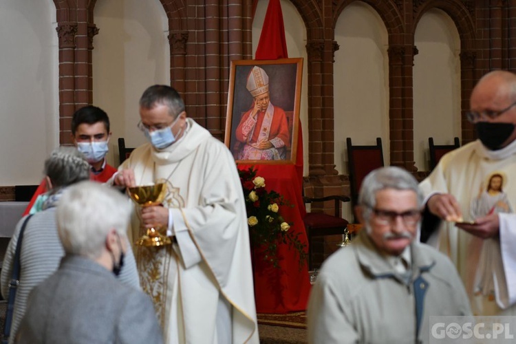
[(418, 208), (422, 207), (424, 197), (413, 175), (396, 166), (381, 167), (365, 176), (358, 195), (358, 204), (363, 206), (363, 217), (366, 221), (371, 217), (372, 208), (376, 206), (376, 193), (384, 189), (413, 191), (417, 195)]

